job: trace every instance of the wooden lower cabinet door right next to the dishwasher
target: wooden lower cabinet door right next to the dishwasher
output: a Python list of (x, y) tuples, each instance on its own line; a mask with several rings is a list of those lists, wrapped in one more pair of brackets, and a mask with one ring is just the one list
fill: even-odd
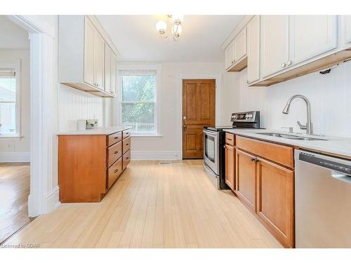
[(263, 159), (257, 169), (256, 213), (286, 248), (293, 248), (293, 171)]

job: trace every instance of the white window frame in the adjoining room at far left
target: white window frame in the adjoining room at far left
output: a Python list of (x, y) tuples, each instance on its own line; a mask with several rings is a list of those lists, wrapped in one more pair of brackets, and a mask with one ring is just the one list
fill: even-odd
[(16, 101), (15, 101), (15, 133), (14, 134), (1, 134), (1, 138), (20, 138), (21, 137), (21, 62), (1, 62), (0, 70), (13, 69), (15, 71), (16, 80)]

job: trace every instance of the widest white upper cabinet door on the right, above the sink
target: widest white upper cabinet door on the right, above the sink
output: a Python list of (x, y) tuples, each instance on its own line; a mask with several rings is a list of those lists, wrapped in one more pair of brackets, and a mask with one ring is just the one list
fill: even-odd
[(337, 47), (336, 15), (289, 16), (289, 66)]

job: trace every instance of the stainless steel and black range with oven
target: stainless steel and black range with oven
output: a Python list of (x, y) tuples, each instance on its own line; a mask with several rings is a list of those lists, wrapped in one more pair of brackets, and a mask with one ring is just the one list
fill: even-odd
[(204, 168), (218, 189), (229, 189), (225, 184), (224, 129), (259, 129), (260, 112), (232, 113), (232, 126), (204, 127)]

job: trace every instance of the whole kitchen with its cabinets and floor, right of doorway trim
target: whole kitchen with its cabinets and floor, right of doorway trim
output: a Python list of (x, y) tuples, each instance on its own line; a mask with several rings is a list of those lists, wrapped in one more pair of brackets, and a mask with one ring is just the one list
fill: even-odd
[(4, 245), (351, 247), (350, 15), (53, 21), (51, 203)]

